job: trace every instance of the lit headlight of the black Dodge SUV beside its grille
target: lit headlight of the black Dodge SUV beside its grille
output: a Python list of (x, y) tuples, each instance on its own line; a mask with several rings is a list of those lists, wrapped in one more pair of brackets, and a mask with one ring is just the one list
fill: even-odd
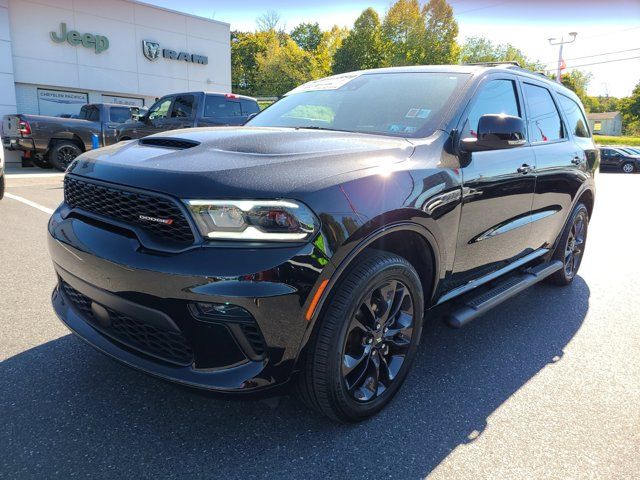
[(205, 238), (295, 242), (310, 239), (318, 219), (293, 200), (185, 200)]

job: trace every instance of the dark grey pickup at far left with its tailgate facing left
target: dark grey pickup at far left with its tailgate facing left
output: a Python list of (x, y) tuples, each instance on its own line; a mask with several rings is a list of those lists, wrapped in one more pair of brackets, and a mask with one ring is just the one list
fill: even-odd
[(5, 115), (4, 146), (21, 150), (36, 165), (64, 171), (82, 152), (91, 150), (93, 135), (100, 146), (116, 142), (115, 128), (131, 119), (138, 107), (110, 103), (83, 105), (79, 118)]

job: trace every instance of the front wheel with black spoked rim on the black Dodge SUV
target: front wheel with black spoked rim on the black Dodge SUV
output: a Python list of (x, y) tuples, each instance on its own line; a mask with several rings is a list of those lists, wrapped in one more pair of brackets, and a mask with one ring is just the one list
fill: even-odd
[[(367, 252), (333, 292), (317, 320), (296, 389), (330, 419), (358, 422), (382, 410), (407, 376), (422, 332), (422, 285), (404, 258)], [(389, 310), (395, 313), (385, 321)]]

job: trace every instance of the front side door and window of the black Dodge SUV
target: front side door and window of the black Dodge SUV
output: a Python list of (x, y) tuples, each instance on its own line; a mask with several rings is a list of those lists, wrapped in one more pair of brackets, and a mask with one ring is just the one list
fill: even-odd
[[(485, 114), (524, 118), (515, 76), (491, 75), (478, 86), (458, 128), (461, 139), (477, 136), (478, 120)], [(463, 205), (452, 276), (455, 286), (532, 251), (529, 216), (535, 158), (531, 147), (474, 152), (462, 165)]]

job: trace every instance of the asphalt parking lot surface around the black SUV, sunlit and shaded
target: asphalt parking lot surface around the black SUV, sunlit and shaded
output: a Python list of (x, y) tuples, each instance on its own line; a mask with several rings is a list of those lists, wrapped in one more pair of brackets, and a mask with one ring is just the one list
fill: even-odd
[(61, 176), (9, 176), (0, 478), (640, 478), (640, 175), (597, 183), (572, 286), (536, 286), (462, 330), (432, 315), (390, 407), (339, 426), (290, 398), (175, 387), (70, 335), (45, 243)]

